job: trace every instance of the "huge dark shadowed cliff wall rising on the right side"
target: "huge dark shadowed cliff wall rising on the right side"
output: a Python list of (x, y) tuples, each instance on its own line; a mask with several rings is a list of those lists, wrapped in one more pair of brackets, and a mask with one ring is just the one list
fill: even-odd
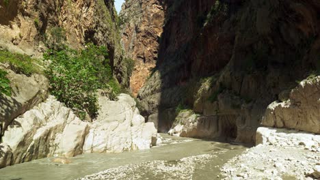
[[(318, 1), (165, 1), (155, 72), (138, 97), (158, 129), (183, 104), (253, 142), (267, 106), (317, 72)], [(227, 129), (222, 132), (230, 132)], [(225, 134), (231, 136), (231, 134)]]

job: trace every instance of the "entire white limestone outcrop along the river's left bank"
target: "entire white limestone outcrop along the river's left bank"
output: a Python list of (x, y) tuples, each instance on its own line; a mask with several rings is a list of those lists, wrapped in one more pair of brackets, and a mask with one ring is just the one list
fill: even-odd
[(121, 94), (118, 101), (100, 96), (93, 123), (81, 121), (70, 108), (49, 96), (46, 102), (17, 117), (0, 144), (0, 168), (44, 157), (73, 157), (90, 152), (149, 149), (157, 142), (153, 123), (144, 123), (135, 101)]

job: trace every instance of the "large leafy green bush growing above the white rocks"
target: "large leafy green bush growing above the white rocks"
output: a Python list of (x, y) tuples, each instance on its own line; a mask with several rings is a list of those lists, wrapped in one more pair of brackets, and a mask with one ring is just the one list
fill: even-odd
[(109, 94), (120, 92), (112, 76), (107, 49), (88, 44), (85, 50), (49, 50), (44, 59), (51, 61), (46, 75), (50, 90), (57, 99), (85, 119), (86, 114), (96, 117), (97, 89), (109, 89)]

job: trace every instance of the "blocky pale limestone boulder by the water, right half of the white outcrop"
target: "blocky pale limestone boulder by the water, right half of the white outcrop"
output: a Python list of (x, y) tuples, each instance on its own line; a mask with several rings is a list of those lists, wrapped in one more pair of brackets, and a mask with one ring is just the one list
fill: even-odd
[(98, 102), (101, 108), (85, 138), (83, 152), (120, 153), (152, 146), (152, 138), (157, 138), (155, 125), (144, 123), (132, 97), (120, 94), (114, 102), (99, 96)]

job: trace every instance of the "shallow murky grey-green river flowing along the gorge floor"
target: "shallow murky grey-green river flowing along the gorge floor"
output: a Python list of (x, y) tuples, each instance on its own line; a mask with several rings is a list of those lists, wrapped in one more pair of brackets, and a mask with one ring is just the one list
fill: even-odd
[(246, 149), (225, 142), (161, 135), (163, 145), (152, 149), (78, 155), (70, 158), (70, 164), (51, 162), (52, 157), (34, 160), (0, 169), (0, 179), (220, 179), (219, 168)]

